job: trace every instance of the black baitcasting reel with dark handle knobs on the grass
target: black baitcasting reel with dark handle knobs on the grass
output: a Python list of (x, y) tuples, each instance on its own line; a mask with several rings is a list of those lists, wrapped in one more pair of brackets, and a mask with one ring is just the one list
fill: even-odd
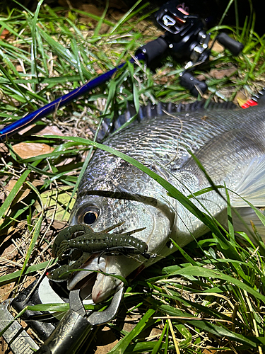
[[(206, 22), (198, 15), (190, 15), (188, 11), (189, 8), (178, 0), (168, 1), (163, 5), (155, 14), (155, 20), (165, 30), (165, 34), (139, 48), (136, 55), (145, 55), (146, 63), (151, 69), (159, 67), (166, 55), (172, 55), (178, 61), (189, 60), (184, 72), (179, 75), (180, 84), (194, 96), (199, 93), (202, 96), (207, 85), (204, 81), (195, 79), (190, 72), (208, 60), (213, 44), (208, 46), (210, 34), (206, 33)], [(244, 48), (242, 43), (225, 33), (220, 33), (216, 40), (233, 55), (239, 55)]]

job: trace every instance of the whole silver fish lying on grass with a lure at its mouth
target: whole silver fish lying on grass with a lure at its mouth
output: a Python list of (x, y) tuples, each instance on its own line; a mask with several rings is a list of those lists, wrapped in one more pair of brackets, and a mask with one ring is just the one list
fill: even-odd
[[(141, 162), (186, 196), (211, 186), (192, 152), (215, 185), (226, 185), (235, 192), (230, 193), (232, 207), (241, 210), (248, 222), (249, 218), (256, 222), (253, 210), (242, 198), (255, 207), (265, 205), (264, 95), (259, 105), (245, 110), (232, 103), (211, 103), (208, 108), (202, 105), (150, 104), (140, 108), (137, 119), (107, 137), (104, 144)], [(127, 109), (118, 125), (134, 114)], [(105, 130), (110, 127), (106, 123)], [(209, 188), (192, 201), (225, 224), (227, 202), (222, 193), (225, 195)], [(155, 179), (102, 149), (93, 154), (78, 186), (69, 227), (79, 224), (95, 233), (105, 229), (116, 234), (131, 232), (130, 237), (141, 240), (150, 255), (123, 253), (121, 247), (89, 253), (83, 270), (72, 273), (67, 286), (69, 290), (90, 287), (95, 303), (110, 297), (122, 284), (121, 277), (137, 274), (176, 251), (170, 239), (183, 247), (208, 231)], [(244, 229), (242, 222), (235, 224), (237, 231)], [(90, 234), (86, 237), (85, 232), (82, 242), (89, 243)]]

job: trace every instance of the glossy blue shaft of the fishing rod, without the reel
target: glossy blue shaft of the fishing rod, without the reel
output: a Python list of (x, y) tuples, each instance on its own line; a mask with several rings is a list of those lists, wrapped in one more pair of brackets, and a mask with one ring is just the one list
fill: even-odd
[[(136, 59), (146, 61), (146, 56), (143, 55), (143, 53), (139, 53), (136, 56)], [(134, 63), (135, 61), (134, 59), (131, 59), (130, 62)], [(117, 70), (124, 67), (125, 64), (126, 63), (120, 64), (118, 67), (115, 67), (109, 72), (106, 72), (105, 74), (96, 77), (92, 81), (89, 81), (88, 84), (78, 87), (78, 89), (75, 89), (64, 96), (57, 98), (57, 100), (48, 103), (47, 105), (42, 108), (39, 108), (38, 110), (35, 110), (33, 113), (30, 113), (25, 117), (16, 120), (16, 122), (6, 125), (6, 127), (0, 130), (0, 142), (6, 141), (8, 137), (11, 137), (22, 128), (27, 127), (28, 125), (34, 122), (37, 122), (37, 120), (40, 120), (42, 117), (53, 113), (55, 110), (58, 110), (62, 106), (68, 105), (68, 103), (71, 103), (80, 96), (85, 95), (86, 93), (88, 93), (88, 91), (104, 84), (107, 80), (110, 80), (112, 78), (114, 72), (117, 72)]]

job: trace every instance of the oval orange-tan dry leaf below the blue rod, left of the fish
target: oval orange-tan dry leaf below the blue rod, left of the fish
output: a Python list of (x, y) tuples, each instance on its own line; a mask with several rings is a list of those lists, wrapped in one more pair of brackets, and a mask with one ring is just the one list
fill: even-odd
[(54, 147), (50, 147), (44, 143), (38, 142), (20, 142), (13, 146), (14, 152), (16, 152), (22, 159), (28, 159), (29, 157), (35, 157), (43, 154), (49, 154), (54, 151)]

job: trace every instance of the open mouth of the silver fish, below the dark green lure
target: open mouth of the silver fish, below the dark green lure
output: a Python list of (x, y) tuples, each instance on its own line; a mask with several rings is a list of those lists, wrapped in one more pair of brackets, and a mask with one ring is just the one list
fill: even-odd
[(80, 271), (73, 273), (67, 282), (68, 290), (85, 289), (91, 293), (93, 302), (97, 304), (112, 295), (122, 280), (115, 275), (126, 278), (142, 263), (134, 258), (118, 256), (100, 256), (93, 254), (83, 263)]

